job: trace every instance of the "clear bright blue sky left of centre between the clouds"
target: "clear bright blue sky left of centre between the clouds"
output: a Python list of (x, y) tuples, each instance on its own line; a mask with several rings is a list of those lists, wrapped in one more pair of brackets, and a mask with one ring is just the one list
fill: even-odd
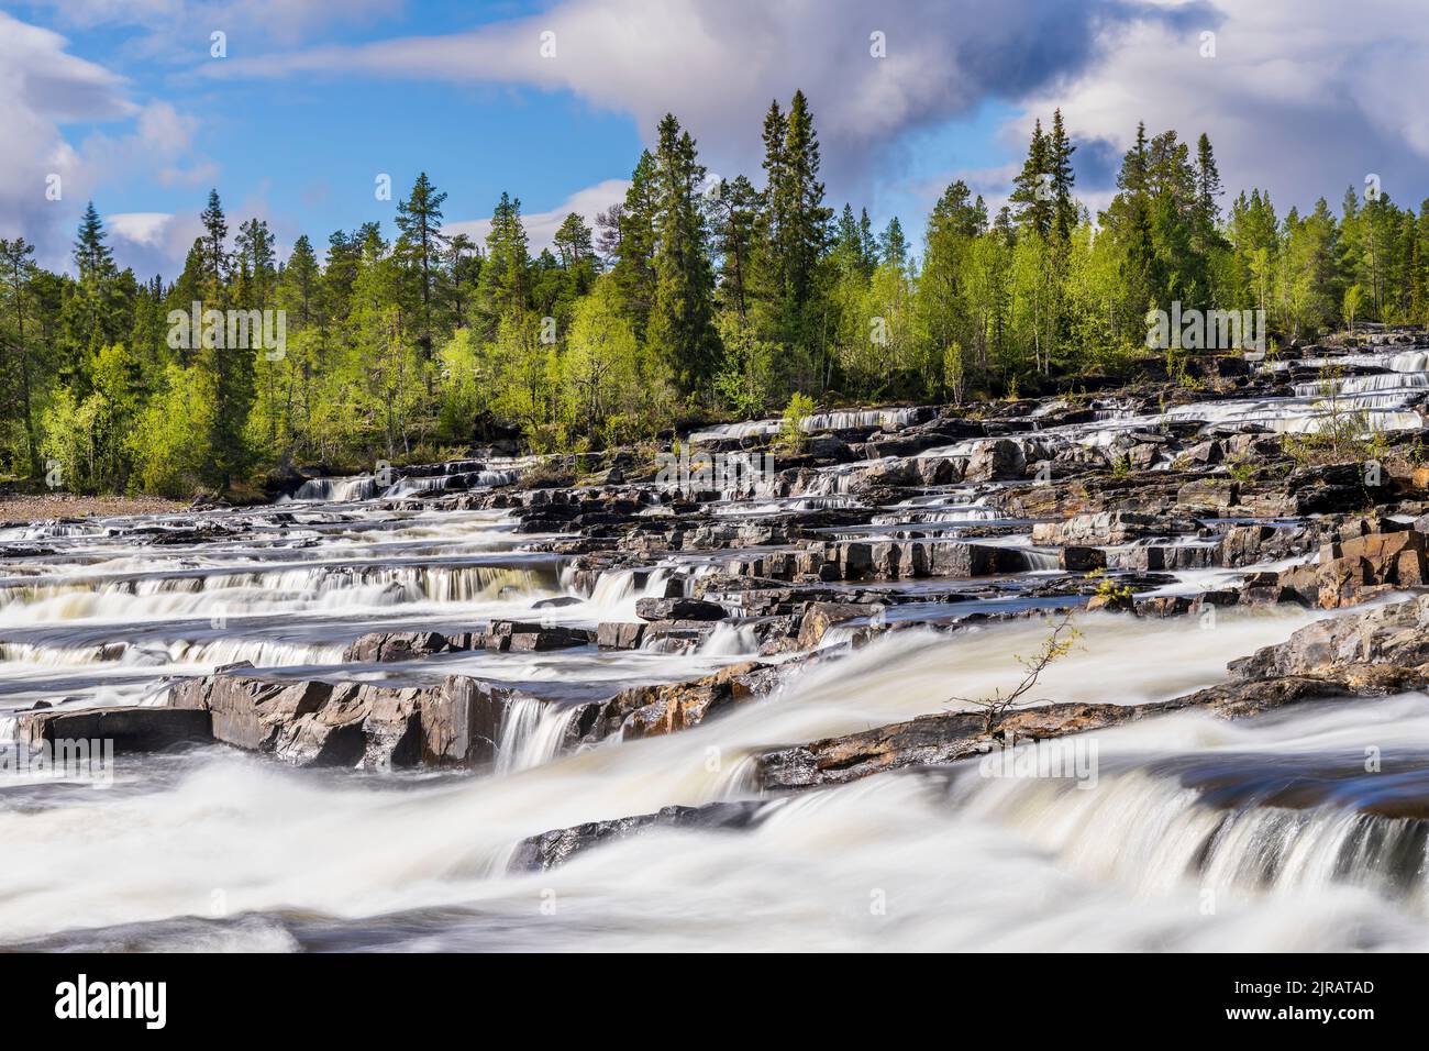
[[(464, 29), (540, 7), (422, 4), (370, 26), (340, 26), (330, 36), (360, 43), (420, 33), (433, 23)], [(474, 17), (473, 9), (480, 9)], [(393, 207), (373, 197), (376, 173), (392, 176), (396, 197), (426, 169), (450, 194), (447, 217), (476, 219), (502, 190), (522, 196), (532, 210), (554, 207), (584, 186), (627, 174), (642, 149), (629, 114), (599, 112), (569, 92), (342, 76), (207, 83), (181, 67), (124, 61), (126, 40), (134, 37), (134, 30), (117, 40), (107, 30), (76, 33), (73, 51), (109, 59), (131, 79), (136, 97), (183, 97), (183, 109), (199, 120), (194, 153), (217, 164), (209, 182), (230, 207), (266, 200), (273, 216), (296, 217), (314, 240), (367, 219), (390, 220)], [(242, 56), (243, 44), (230, 39), (230, 59)], [(209, 40), (196, 37), (194, 49), (196, 61), (207, 59)], [(69, 129), (79, 140), (103, 130), (99, 123)], [(553, 143), (563, 152), (559, 163)], [(107, 186), (100, 203), (106, 213), (197, 212), (209, 182), (174, 187), (136, 174)]]

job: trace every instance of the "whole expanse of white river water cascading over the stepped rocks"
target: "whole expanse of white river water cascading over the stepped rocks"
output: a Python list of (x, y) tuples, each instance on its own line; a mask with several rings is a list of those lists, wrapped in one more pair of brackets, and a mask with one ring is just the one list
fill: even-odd
[[(1420, 426), (1413, 399), (1429, 389), (1425, 355), (1355, 357), (1363, 360), (1339, 360), (1383, 372), (1305, 382), (1290, 398), (1176, 406), (1166, 416), (1109, 402), (1089, 423), (1013, 440), (1030, 460), (1067, 445), (1109, 446), (1166, 418), (1208, 432), (1305, 432), (1339, 412), (1328, 400), (1363, 412), (1369, 428)], [(847, 410), (802, 426), (917, 419), (916, 409)], [(757, 420), (693, 438), (777, 429), (777, 420)], [(987, 440), (996, 439), (922, 455), (965, 458)], [(217, 746), (131, 759), (103, 788), (0, 771), (0, 947), (1429, 948), (1422, 695), (1306, 704), (1242, 724), (1177, 714), (1009, 754), (1033, 768), (1070, 754), (1093, 776), (997, 776), (989, 774), (1003, 768), (992, 761), (967, 761), (760, 798), (753, 775), (763, 751), (1007, 689), (1022, 675), (1017, 655), (1037, 649), (1046, 623), (899, 629), (860, 649), (843, 645), (856, 626), (835, 626), (825, 636), (833, 655), (793, 669), (770, 696), (669, 736), (576, 751), (574, 699), (746, 661), (760, 648), (756, 625), (684, 629), (687, 638), (633, 651), (346, 661), (347, 645), (367, 631), (634, 621), (642, 598), (696, 595), (716, 562), (746, 553), (679, 552), (594, 575), (564, 556), (523, 551), (540, 538), (516, 533), (500, 512), (382, 502), (506, 485), (526, 463), (462, 462), (386, 486), (372, 476), (314, 479), (279, 508), (204, 519), (244, 523), (231, 538), (186, 539), (193, 516), (153, 516), (143, 533), (113, 520), (0, 533), (0, 542), (44, 548), (0, 555), (0, 738), (14, 732), (14, 711), (37, 701), (156, 704), (171, 676), (239, 661), (373, 682), (466, 673), (532, 694), (513, 701), (494, 769), (479, 775), (297, 771)], [(867, 472), (889, 463), (809, 472), (796, 490), (762, 482), (755, 499), (729, 493), (712, 505), (712, 520), (757, 529), (782, 510), (859, 508)], [(956, 536), (997, 519), (995, 489), (929, 488), (850, 535), (906, 538), (912, 528)], [(979, 542), (1019, 552), (1016, 586), (1060, 572), (1055, 549), (1032, 546), (1030, 523), (1009, 525), (1007, 535)], [(1259, 568), (1187, 571), (1155, 591), (1190, 593)], [(899, 586), (916, 598), (925, 583), (949, 585)], [(889, 621), (920, 609), (890, 606)], [(1209, 622), (1080, 613), (1077, 646), (1046, 671), (1032, 699), (1179, 696), (1223, 681), (1229, 659), (1325, 615), (1290, 606), (1228, 608)], [(1366, 769), (1370, 754), (1382, 771)], [(757, 805), (755, 825), (659, 829), (549, 872), (507, 872), (524, 837), (716, 801)]]

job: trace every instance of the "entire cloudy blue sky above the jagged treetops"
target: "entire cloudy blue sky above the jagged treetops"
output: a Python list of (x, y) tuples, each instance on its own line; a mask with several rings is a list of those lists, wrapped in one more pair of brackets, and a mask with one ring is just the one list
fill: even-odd
[[(1429, 196), (1425, 0), (0, 0), (0, 236), (71, 269), (86, 202), (121, 266), (171, 280), (216, 187), (280, 249), (382, 220), (419, 172), (450, 230), (503, 190), (533, 249), (619, 200), (674, 113), (713, 174), (762, 183), (772, 100), (809, 97), (835, 207), (899, 216), (942, 190), (1000, 204), (1060, 107), (1077, 196), (1122, 153), (1202, 132), (1232, 192), (1283, 214), (1375, 174)], [(219, 34), (219, 36), (216, 36)], [(379, 200), (382, 176), (392, 199)]]

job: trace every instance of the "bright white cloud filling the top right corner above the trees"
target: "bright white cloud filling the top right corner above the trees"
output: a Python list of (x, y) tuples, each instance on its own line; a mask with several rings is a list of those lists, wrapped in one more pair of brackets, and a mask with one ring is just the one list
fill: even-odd
[(1226, 189), (1269, 189), (1282, 214), (1320, 196), (1338, 209), (1345, 187), (1363, 189), (1370, 172), (1400, 206), (1418, 207), (1429, 193), (1422, 0), (1369, 0), (1353, 11), (1338, 0), (1216, 6), (1219, 24), (1206, 24), (1215, 57), (1202, 57), (1193, 26), (1182, 36), (1136, 26), (1105, 61), (1029, 99), (1017, 139), (1025, 142), (1033, 114), (1060, 104), (1075, 139), (1120, 150), (1137, 120), (1149, 134), (1176, 129), (1192, 149), (1205, 132)]

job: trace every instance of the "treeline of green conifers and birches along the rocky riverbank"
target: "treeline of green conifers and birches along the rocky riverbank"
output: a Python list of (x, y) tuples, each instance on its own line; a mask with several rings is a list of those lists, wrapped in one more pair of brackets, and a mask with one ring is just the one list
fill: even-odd
[[(74, 490), (186, 496), (279, 463), (350, 470), (519, 435), (583, 450), (690, 413), (793, 396), (962, 400), (1146, 349), (1149, 309), (1263, 309), (1283, 339), (1429, 320), (1429, 202), (1372, 186), (1336, 216), (1226, 202), (1209, 139), (1136, 142), (1093, 222), (1060, 112), (1033, 132), (996, 214), (946, 189), (915, 257), (895, 217), (835, 210), (807, 100), (773, 103), (757, 179), (712, 180), (673, 116), (624, 200), (572, 213), (532, 255), (502, 194), (483, 245), (443, 229), (423, 173), (394, 227), (303, 236), (279, 262), (263, 220), (219, 194), (169, 283), (119, 270), (90, 204), (73, 273), (0, 240), (0, 472)], [(390, 236), (389, 236), (390, 235)], [(184, 340), (189, 312), (284, 312), (279, 350)], [(180, 312), (180, 313), (176, 313)]]

